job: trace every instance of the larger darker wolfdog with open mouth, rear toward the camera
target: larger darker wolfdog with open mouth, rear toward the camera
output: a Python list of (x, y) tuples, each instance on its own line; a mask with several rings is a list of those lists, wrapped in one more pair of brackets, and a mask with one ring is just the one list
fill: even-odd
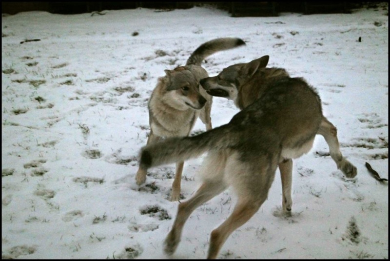
[(233, 99), (242, 109), (228, 124), (194, 137), (171, 138), (142, 148), (140, 168), (144, 170), (208, 152), (202, 185), (178, 206), (165, 239), (167, 254), (175, 252), (184, 223), (195, 208), (231, 185), (238, 196), (237, 204), (230, 217), (211, 233), (208, 258), (215, 259), (229, 235), (267, 199), (277, 167), (283, 211), (291, 213), (292, 159), (309, 152), (316, 134), (325, 138), (331, 158), (345, 176), (356, 176), (356, 167), (339, 150), (336, 128), (322, 115), (315, 90), (304, 79), (291, 78), (284, 69), (266, 68), (268, 60), (263, 56), (234, 64), (200, 81), (210, 95)]

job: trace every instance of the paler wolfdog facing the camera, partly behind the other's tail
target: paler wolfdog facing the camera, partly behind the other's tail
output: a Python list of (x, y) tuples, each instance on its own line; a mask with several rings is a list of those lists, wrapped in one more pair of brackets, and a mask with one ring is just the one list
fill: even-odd
[[(150, 124), (148, 145), (161, 137), (188, 136), (198, 117), (206, 125), (207, 130), (212, 129), (210, 117), (212, 96), (203, 88), (199, 88), (199, 80), (209, 76), (201, 62), (216, 52), (241, 45), (245, 45), (245, 42), (239, 38), (210, 40), (192, 53), (185, 66), (165, 70), (166, 75), (158, 79), (148, 104)], [(183, 165), (184, 161), (176, 162), (171, 201), (179, 200)], [(145, 169), (138, 169), (136, 181), (137, 185), (146, 181)]]

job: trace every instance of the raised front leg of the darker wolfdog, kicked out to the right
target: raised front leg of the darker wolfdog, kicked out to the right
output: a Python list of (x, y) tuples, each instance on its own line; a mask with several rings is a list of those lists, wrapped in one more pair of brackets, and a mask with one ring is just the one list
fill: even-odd
[(352, 165), (350, 161), (347, 161), (340, 152), (336, 127), (325, 117), (322, 117), (317, 134), (322, 135), (328, 143), (331, 158), (336, 162), (337, 168), (340, 169), (347, 178), (355, 177), (357, 174), (356, 167)]

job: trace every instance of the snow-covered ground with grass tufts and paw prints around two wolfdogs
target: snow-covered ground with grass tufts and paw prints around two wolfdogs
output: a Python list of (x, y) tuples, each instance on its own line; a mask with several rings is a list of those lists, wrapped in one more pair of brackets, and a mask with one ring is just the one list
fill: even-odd
[[(247, 45), (207, 59), (209, 74), (270, 55), (269, 66), (306, 78), (358, 175), (345, 179), (317, 137), (294, 161), (292, 217), (280, 215), (277, 172), (268, 200), (218, 258), (388, 259), (388, 183), (365, 166), (388, 179), (387, 8), (257, 18), (211, 7), (3, 15), (2, 258), (167, 258), (175, 166), (153, 168), (146, 184), (135, 183), (149, 133), (147, 102), (164, 69), (183, 65), (207, 40), (239, 37)], [(215, 98), (213, 126), (237, 112), (232, 101)], [(198, 120), (193, 132), (204, 130)], [(199, 185), (201, 163), (185, 163), (183, 198)], [(205, 258), (210, 232), (235, 201), (228, 189), (196, 209), (173, 258)]]

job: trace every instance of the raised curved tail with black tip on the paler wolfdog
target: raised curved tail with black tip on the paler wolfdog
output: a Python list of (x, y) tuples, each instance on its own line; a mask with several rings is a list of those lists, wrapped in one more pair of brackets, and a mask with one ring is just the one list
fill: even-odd
[(186, 65), (200, 65), (206, 57), (216, 52), (233, 49), (241, 45), (245, 45), (245, 42), (239, 38), (217, 38), (207, 41), (196, 48), (188, 58)]

